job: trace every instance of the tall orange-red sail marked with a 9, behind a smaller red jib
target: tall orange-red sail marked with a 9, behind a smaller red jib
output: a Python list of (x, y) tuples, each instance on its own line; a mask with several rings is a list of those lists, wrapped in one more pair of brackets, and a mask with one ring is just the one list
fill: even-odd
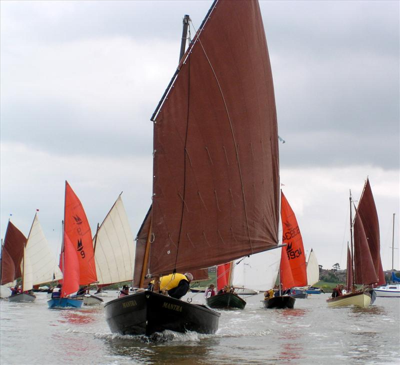
[(79, 284), (85, 285), (97, 281), (89, 222), (80, 200), (67, 181), (65, 181), (64, 232), (70, 239), (78, 258)]

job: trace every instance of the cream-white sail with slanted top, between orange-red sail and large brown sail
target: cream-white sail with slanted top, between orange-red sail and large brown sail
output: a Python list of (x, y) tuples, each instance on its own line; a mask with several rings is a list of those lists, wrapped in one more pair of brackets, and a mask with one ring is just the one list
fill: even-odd
[(135, 245), (121, 196), (98, 228), (93, 246), (99, 284), (132, 280)]

